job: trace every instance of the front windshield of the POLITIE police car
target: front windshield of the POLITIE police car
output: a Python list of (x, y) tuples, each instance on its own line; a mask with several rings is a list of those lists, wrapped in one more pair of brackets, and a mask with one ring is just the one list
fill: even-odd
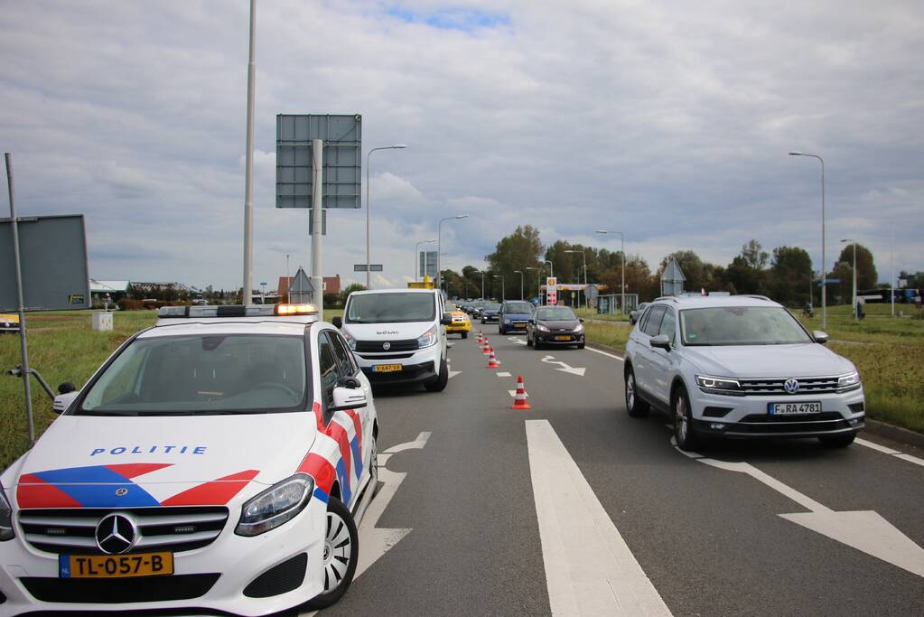
[(301, 336), (136, 339), (91, 384), (77, 415), (274, 413), (306, 408)]

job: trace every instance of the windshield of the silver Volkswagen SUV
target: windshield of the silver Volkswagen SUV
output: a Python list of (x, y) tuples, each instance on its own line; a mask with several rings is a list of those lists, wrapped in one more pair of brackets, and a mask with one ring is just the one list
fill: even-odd
[(717, 307), (680, 311), (684, 345), (791, 345), (811, 343), (782, 307)]

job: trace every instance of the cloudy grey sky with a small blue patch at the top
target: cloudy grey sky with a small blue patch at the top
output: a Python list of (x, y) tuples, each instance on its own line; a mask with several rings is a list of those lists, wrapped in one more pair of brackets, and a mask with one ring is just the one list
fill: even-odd
[[(241, 281), (245, 0), (8, 3), (0, 149), (18, 209), (87, 215), (91, 275)], [(750, 238), (828, 267), (856, 237), (924, 270), (924, 6), (822, 1), (258, 3), (254, 280), (310, 263), (307, 212), (274, 208), (279, 113), (363, 115), (376, 284), (480, 267), (517, 224), (727, 264)], [(363, 157), (365, 163), (365, 156)], [(363, 170), (365, 177), (365, 170)], [(6, 191), (4, 191), (6, 192)], [(365, 208), (330, 212), (324, 273), (364, 262)]]

